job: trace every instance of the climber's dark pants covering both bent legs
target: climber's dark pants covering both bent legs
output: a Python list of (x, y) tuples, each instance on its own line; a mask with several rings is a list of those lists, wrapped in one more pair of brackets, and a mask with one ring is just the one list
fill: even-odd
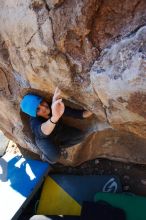
[[(54, 129), (55, 130), (55, 129)], [(61, 124), (56, 132), (46, 138), (35, 138), (42, 159), (55, 163), (60, 158), (60, 148), (71, 147), (83, 141), (86, 133), (78, 128)]]

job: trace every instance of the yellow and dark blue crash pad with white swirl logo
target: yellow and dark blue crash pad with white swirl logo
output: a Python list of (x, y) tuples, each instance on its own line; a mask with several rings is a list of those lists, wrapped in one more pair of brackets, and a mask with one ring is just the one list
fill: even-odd
[(96, 192), (121, 192), (116, 176), (50, 175), (46, 178), (37, 214), (80, 215), (82, 202)]

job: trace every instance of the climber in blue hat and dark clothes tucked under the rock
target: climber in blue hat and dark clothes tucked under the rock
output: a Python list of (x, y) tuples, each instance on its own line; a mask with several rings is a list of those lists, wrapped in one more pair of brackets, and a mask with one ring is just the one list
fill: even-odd
[(66, 152), (63, 149), (80, 143), (87, 135), (80, 129), (64, 124), (61, 118), (65, 115), (83, 119), (90, 117), (92, 113), (65, 107), (59, 88), (55, 89), (52, 103), (38, 95), (27, 94), (20, 107), (30, 116), (30, 127), (41, 151), (41, 159), (51, 164), (60, 159), (62, 152)]

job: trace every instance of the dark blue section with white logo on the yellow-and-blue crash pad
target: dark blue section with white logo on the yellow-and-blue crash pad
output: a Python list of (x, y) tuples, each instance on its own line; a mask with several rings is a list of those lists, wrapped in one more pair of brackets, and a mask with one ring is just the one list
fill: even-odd
[(79, 204), (93, 201), (96, 192), (122, 192), (117, 176), (112, 175), (50, 175)]

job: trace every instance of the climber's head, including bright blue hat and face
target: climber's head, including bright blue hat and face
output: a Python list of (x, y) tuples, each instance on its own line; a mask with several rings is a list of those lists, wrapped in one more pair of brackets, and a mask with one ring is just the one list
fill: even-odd
[(42, 97), (33, 94), (25, 95), (20, 107), (23, 112), (32, 117), (41, 116), (47, 119), (51, 112), (48, 102)]

